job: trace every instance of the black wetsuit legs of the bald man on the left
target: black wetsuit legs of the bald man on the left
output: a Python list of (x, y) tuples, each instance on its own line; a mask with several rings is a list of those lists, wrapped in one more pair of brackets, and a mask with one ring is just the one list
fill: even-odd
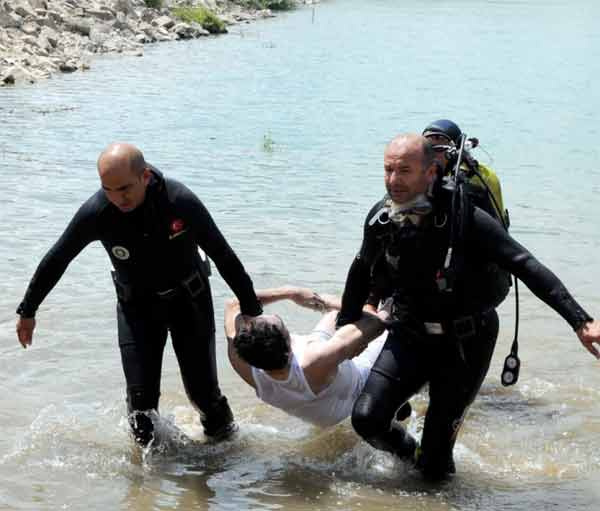
[(153, 437), (152, 421), (141, 412), (158, 410), (168, 332), (185, 391), (200, 412), (205, 433), (215, 434), (233, 421), (217, 379), (210, 289), (193, 299), (181, 291), (170, 299), (153, 296), (127, 303), (119, 301), (117, 320), (129, 419), (139, 443), (145, 445)]

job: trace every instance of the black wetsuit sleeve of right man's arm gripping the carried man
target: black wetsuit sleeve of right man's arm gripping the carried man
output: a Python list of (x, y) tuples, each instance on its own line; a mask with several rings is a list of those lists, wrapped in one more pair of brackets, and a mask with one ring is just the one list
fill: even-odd
[(369, 226), (369, 220), (380, 208), (377, 204), (367, 215), (363, 227), (363, 242), (360, 251), (352, 261), (344, 294), (342, 295), (342, 308), (338, 314), (336, 327), (342, 327), (348, 323), (358, 321), (362, 315), (362, 308), (369, 297), (371, 290), (371, 266), (373, 265), (377, 243), (372, 233), (373, 229)]

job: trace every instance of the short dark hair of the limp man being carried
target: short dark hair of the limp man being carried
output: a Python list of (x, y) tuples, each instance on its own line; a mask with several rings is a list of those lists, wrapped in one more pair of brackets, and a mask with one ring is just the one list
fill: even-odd
[(233, 338), (233, 346), (245, 362), (267, 371), (283, 369), (290, 356), (287, 332), (266, 321), (240, 330)]

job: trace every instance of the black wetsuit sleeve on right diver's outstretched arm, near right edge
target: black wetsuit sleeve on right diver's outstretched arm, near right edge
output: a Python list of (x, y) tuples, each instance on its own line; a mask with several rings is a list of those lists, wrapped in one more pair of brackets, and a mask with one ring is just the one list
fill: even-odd
[(473, 227), (476, 246), (498, 266), (523, 281), (540, 300), (558, 312), (574, 330), (592, 320), (558, 277), (515, 241), (500, 223), (485, 211), (474, 209)]

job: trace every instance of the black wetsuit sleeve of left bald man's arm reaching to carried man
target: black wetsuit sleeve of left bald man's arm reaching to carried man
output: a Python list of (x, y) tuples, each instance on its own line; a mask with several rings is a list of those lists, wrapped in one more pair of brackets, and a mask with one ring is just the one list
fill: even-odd
[(212, 259), (227, 285), (237, 296), (242, 314), (262, 314), (262, 306), (254, 292), (252, 280), (204, 204), (192, 192), (186, 197), (186, 202), (186, 209), (194, 226), (196, 243)]

